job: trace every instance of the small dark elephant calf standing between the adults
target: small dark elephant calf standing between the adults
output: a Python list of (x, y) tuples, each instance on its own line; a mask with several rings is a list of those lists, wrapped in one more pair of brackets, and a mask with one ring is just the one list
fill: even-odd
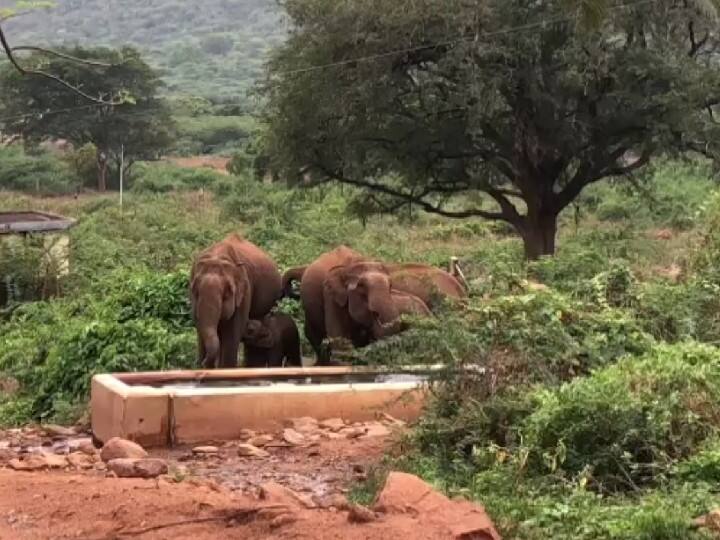
[(293, 318), (284, 313), (248, 321), (243, 345), (245, 367), (302, 367), (300, 334)]

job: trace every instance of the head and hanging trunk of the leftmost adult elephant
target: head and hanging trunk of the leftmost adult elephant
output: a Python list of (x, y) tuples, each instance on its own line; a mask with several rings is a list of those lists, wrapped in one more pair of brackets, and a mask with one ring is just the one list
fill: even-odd
[(240, 335), (245, 331), (250, 281), (244, 264), (220, 258), (199, 260), (193, 266), (191, 275), (193, 318), (198, 330), (202, 363), (206, 368), (213, 368), (219, 365), (221, 353), (219, 325), (224, 321), (239, 322), (236, 331)]

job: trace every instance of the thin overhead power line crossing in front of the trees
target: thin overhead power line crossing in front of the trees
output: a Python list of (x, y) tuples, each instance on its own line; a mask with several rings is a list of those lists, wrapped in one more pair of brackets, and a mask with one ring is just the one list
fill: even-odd
[[(616, 6), (612, 6), (611, 8), (609, 8), (609, 10), (615, 11), (615, 10), (621, 10), (621, 9), (629, 9), (629, 8), (637, 7), (637, 6), (640, 6), (643, 4), (654, 4), (655, 2), (657, 2), (657, 0), (637, 0), (635, 2), (628, 2), (625, 4), (619, 4)], [(361, 56), (358, 58), (340, 60), (337, 62), (330, 62), (327, 64), (318, 64), (318, 65), (314, 65), (314, 66), (308, 66), (305, 68), (281, 71), (281, 72), (276, 73), (275, 75), (277, 75), (277, 76), (296, 75), (296, 74), (301, 74), (301, 73), (321, 71), (324, 69), (330, 69), (330, 68), (334, 68), (334, 67), (346, 66), (346, 65), (355, 64), (358, 62), (370, 62), (370, 61), (380, 60), (383, 58), (388, 58), (390, 56), (395, 56), (395, 55), (399, 55), (399, 54), (407, 54), (410, 52), (419, 52), (419, 51), (424, 51), (427, 49), (435, 49), (435, 48), (439, 48), (439, 47), (447, 47), (447, 46), (451, 46), (451, 45), (457, 45), (460, 43), (479, 41), (481, 39), (487, 39), (487, 38), (497, 37), (497, 36), (501, 36), (501, 35), (507, 35), (507, 34), (517, 33), (517, 32), (525, 32), (528, 30), (534, 30), (536, 28), (543, 28), (550, 24), (569, 22), (569, 21), (573, 21), (576, 19), (577, 19), (576, 15), (553, 17), (553, 18), (549, 18), (549, 19), (544, 19), (542, 21), (537, 21), (534, 23), (513, 26), (510, 28), (505, 28), (505, 29), (497, 30), (497, 31), (493, 31), (493, 32), (483, 32), (483, 33), (479, 33), (479, 34), (474, 34), (472, 36), (464, 36), (464, 37), (460, 37), (457, 39), (448, 40), (448, 41), (444, 41), (444, 42), (432, 43), (432, 44), (427, 44), (427, 45), (418, 45), (415, 47), (396, 49), (393, 51), (386, 51), (386, 52), (377, 53), (377, 54), (373, 54), (373, 55)], [(92, 109), (95, 107), (103, 107), (103, 106), (107, 106), (107, 105), (108, 104), (105, 104), (105, 103), (93, 103), (90, 105), (83, 105), (83, 106), (79, 106), (79, 107), (70, 107), (70, 108), (66, 108), (66, 109), (49, 110), (49, 111), (45, 111), (45, 112), (41, 112), (41, 113), (27, 113), (27, 114), (22, 114), (22, 115), (0, 118), (0, 122), (8, 122), (8, 121), (12, 121), (12, 120), (22, 120), (24, 118), (32, 118), (32, 117), (36, 117), (36, 116), (48, 116), (51, 114), (74, 112), (74, 111), (78, 111), (78, 110)], [(220, 104), (220, 105), (224, 105), (224, 104)], [(244, 105), (244, 103), (237, 103), (237, 104), (230, 104), (230, 105)], [(133, 113), (125, 113), (126, 116), (132, 115), (132, 114)], [(135, 113), (135, 114), (137, 114), (137, 113)], [(140, 114), (144, 114), (144, 112), (140, 113)]]

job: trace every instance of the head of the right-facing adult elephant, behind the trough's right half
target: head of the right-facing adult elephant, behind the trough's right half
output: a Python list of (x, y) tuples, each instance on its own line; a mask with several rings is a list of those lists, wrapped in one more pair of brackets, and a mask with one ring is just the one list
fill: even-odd
[(330, 299), (347, 310), (355, 325), (375, 339), (401, 330), (399, 312), (392, 299), (387, 267), (380, 262), (355, 262), (330, 270), (325, 281)]

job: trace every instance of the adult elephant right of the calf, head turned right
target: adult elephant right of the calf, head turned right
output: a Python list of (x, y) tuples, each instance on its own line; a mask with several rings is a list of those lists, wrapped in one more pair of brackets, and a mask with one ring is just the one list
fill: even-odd
[(329, 363), (329, 354), (322, 347), (325, 338), (345, 338), (362, 347), (400, 330), (384, 263), (340, 246), (306, 267), (288, 270), (283, 278), (286, 294), (292, 280), (298, 278), (305, 336), (319, 364)]

